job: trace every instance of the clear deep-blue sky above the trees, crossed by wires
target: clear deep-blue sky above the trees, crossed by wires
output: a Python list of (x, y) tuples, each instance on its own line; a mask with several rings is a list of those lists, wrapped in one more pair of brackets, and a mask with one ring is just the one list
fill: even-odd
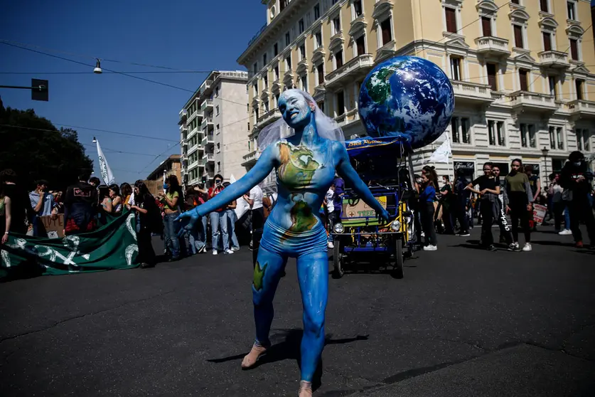
[[(36, 48), (83, 63), (95, 64), (92, 57), (123, 61), (102, 61), (102, 67), (117, 71), (162, 71), (129, 63), (181, 70), (242, 70), (236, 59), (266, 22), (264, 7), (257, 0), (4, 1), (0, 39), (63, 51)], [(0, 89), (4, 106), (33, 108), (38, 115), (63, 125), (173, 140), (180, 137), (178, 112), (191, 95), (117, 74), (44, 74), (92, 72), (92, 68), (4, 44), (0, 44), (0, 72), (43, 72), (0, 74), (0, 85), (29, 85), (31, 78), (50, 82), (49, 102), (32, 101), (27, 90)], [(206, 74), (136, 76), (195, 90)], [(95, 136), (100, 140), (118, 183), (145, 178), (169, 154), (180, 153), (179, 146), (168, 150), (168, 144), (176, 142), (77, 131), (80, 142), (90, 145), (85, 148), (97, 173), (92, 139)], [(109, 152), (105, 148), (154, 155), (167, 152), (151, 163), (154, 157)], [(139, 174), (141, 169), (144, 171)]]

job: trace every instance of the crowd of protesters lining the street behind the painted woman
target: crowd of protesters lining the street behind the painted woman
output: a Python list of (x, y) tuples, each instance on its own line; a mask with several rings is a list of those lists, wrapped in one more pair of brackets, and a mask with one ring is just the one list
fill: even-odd
[[(595, 243), (593, 214), (593, 174), (581, 152), (572, 152), (560, 172), (542, 181), (532, 173), (532, 166), (523, 166), (520, 159), (510, 164), (507, 176), (500, 176), (500, 168), (487, 162), (483, 175), (468, 181), (462, 172), (454, 180), (439, 176), (433, 166), (424, 166), (421, 175), (414, 176), (414, 196), (409, 206), (414, 210), (416, 231), (413, 236), (417, 249), (437, 250), (437, 234), (468, 236), (475, 224), (481, 225), (479, 244), (495, 250), (492, 227), (498, 226), (498, 244), (513, 251), (530, 251), (531, 233), (540, 225), (553, 222), (555, 231), (574, 239), (577, 248), (584, 248), (580, 226), (584, 224), (591, 246)], [(461, 171), (461, 170), (458, 170)], [(89, 233), (107, 225), (114, 217), (132, 211), (136, 218), (138, 262), (141, 268), (153, 267), (157, 258), (151, 238), (164, 240), (164, 258), (175, 261), (183, 257), (205, 253), (230, 255), (240, 249), (238, 235), (247, 236), (250, 250), (257, 251), (264, 222), (275, 204), (276, 195), (267, 196), (257, 185), (237, 201), (203, 216), (198, 227), (186, 231), (187, 222), (176, 221), (184, 211), (215, 197), (230, 182), (215, 175), (212, 186), (188, 186), (186, 190), (175, 175), (168, 176), (163, 191), (156, 196), (149, 193), (144, 181), (133, 185), (101, 184), (97, 177), (82, 174), (76, 184), (65, 191), (50, 190), (47, 181), (38, 180), (31, 191), (18, 184), (11, 169), (0, 172), (0, 225), (4, 228), (2, 244), (9, 233), (36, 237), (58, 237)], [(328, 189), (321, 219), (327, 230), (341, 217), (345, 183), (336, 176)], [(63, 217), (62, 234), (48, 233), (46, 224)], [(184, 230), (184, 233), (179, 233)], [(55, 232), (53, 232), (55, 233)], [(522, 245), (519, 235), (522, 234)], [(333, 237), (328, 233), (328, 248)], [(252, 255), (256, 258), (256, 253)]]

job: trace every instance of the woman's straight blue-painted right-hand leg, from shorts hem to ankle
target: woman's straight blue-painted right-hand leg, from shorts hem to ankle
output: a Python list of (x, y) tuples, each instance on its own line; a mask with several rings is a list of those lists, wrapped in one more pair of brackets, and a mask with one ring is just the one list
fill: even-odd
[(324, 348), (324, 317), (328, 298), (326, 252), (301, 255), (297, 273), (304, 306), (304, 337), (301, 339), (301, 380), (311, 382)]

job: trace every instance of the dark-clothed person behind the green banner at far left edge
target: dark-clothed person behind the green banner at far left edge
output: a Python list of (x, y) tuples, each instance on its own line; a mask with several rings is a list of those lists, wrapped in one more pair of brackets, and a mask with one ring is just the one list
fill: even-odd
[(18, 177), (12, 169), (0, 172), (0, 183), (4, 195), (11, 199), (11, 232), (26, 234), (27, 226), (33, 225), (36, 216), (27, 190), (18, 183)]

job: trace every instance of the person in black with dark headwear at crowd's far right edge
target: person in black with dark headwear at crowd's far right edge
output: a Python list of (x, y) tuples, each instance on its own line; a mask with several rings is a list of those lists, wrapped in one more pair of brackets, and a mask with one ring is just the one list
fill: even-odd
[(583, 248), (583, 238), (580, 228), (581, 219), (586, 224), (586, 231), (591, 240), (591, 248), (595, 245), (595, 217), (589, 202), (593, 173), (588, 170), (584, 155), (572, 152), (568, 162), (560, 174), (560, 186), (569, 191), (568, 209), (570, 214), (570, 230), (577, 248)]

